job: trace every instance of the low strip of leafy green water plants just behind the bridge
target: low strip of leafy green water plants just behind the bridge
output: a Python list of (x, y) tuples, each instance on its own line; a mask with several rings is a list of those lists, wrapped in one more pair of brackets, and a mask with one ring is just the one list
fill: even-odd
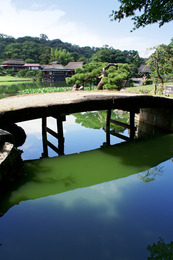
[[(95, 90), (97, 87), (84, 87), (84, 90)], [(53, 93), (53, 92), (62, 92), (62, 91), (70, 91), (72, 90), (72, 87), (60, 87), (60, 88), (39, 88), (39, 89), (25, 89), (18, 91), (17, 95), (22, 94), (35, 94), (35, 93)]]

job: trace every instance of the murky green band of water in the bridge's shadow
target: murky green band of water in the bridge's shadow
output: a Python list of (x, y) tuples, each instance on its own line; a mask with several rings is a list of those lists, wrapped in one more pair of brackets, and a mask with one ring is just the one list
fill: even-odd
[[(23, 183), (9, 203), (18, 204), (143, 172), (173, 156), (173, 134), (24, 163)], [(161, 150), (162, 152), (158, 151)], [(25, 175), (26, 174), (26, 175)], [(26, 179), (26, 181), (25, 181)]]

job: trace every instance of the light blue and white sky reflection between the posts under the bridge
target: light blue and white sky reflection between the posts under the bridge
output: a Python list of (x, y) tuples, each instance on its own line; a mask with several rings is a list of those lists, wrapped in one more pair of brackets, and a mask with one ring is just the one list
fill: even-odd
[[(65, 154), (89, 151), (99, 148), (103, 142), (106, 142), (106, 133), (104, 130), (82, 127), (80, 124), (75, 123), (75, 119), (74, 116), (70, 115), (66, 116), (66, 121), (63, 122)], [(40, 158), (43, 153), (42, 119), (20, 122), (17, 125), (22, 127), (27, 134), (25, 144), (19, 147), (24, 151), (24, 153), (22, 153), (22, 159), (27, 160)], [(47, 126), (57, 132), (56, 119), (52, 117), (47, 118)], [(125, 130), (123, 135), (129, 136), (128, 130)], [(56, 138), (51, 136), (49, 133), (47, 136), (48, 140), (52, 144), (58, 146), (58, 140)], [(115, 136), (110, 136), (110, 144), (116, 144), (123, 141), (124, 140), (116, 138)], [(48, 147), (48, 155), (49, 157), (57, 156), (57, 153)]]

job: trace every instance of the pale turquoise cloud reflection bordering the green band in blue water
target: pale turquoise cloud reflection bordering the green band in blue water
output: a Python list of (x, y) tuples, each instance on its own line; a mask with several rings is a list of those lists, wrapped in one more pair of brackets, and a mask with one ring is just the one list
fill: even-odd
[[(108, 218), (120, 218), (118, 207), (124, 203), (125, 196), (130, 190), (133, 190), (136, 182), (139, 181), (136, 174), (126, 178), (100, 183), (86, 188), (79, 188), (68, 192), (48, 196), (48, 203), (58, 202), (65, 207), (73, 208), (75, 205), (81, 207), (94, 206), (102, 208), (98, 215), (102, 221)], [(88, 205), (88, 206), (87, 206)]]

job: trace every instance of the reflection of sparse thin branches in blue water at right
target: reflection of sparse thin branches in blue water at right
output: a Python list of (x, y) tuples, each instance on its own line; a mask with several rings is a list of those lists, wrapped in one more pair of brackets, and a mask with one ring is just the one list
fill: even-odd
[(163, 167), (164, 166), (155, 166), (154, 168), (148, 169), (143, 171), (143, 173), (146, 173), (145, 176), (142, 176), (140, 174), (138, 174), (138, 178), (142, 181), (144, 181), (145, 183), (148, 183), (150, 181), (154, 181), (156, 175), (162, 176), (163, 175)]

